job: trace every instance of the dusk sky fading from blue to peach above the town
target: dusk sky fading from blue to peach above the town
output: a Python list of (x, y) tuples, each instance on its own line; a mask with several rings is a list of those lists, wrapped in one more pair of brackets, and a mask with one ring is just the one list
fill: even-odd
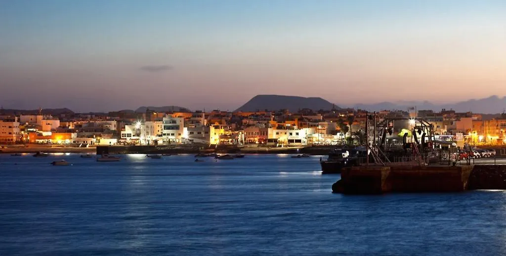
[(504, 0), (16, 0), (0, 24), (4, 108), (506, 95)]

